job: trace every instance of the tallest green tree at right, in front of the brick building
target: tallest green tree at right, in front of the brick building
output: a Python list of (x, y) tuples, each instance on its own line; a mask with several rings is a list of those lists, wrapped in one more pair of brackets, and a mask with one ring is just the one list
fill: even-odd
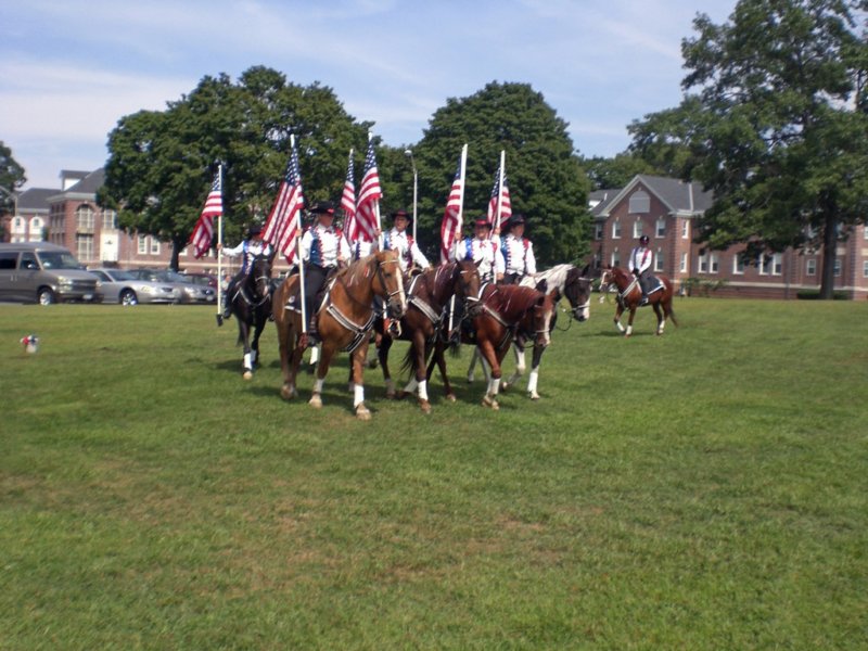
[(866, 10), (865, 0), (741, 0), (722, 25), (699, 14), (681, 48), (682, 86), (695, 94), (633, 129), (636, 149), (689, 145), (682, 175), (715, 196), (697, 240), (748, 242), (754, 261), (821, 248), (825, 298), (839, 238), (868, 213), (868, 54), (856, 23)]

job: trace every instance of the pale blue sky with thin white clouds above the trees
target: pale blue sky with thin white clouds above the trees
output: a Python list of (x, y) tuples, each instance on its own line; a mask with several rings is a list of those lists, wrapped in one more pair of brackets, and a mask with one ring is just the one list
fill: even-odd
[(417, 142), (448, 98), (531, 84), (586, 156), (675, 106), (697, 12), (736, 0), (1, 0), (0, 140), (25, 188), (105, 163), (124, 115), (159, 110), (205, 75), (266, 65), (330, 86), (391, 145)]

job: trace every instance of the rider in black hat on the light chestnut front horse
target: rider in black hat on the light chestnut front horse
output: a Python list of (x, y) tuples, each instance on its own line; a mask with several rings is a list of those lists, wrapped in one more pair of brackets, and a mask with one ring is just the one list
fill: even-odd
[(333, 226), (332, 202), (317, 202), (310, 213), (315, 222), (302, 237), (302, 263), (305, 266), (305, 314), (309, 322), (307, 345), (314, 346), (319, 341), (316, 315), (318, 295), (329, 276), (349, 261), (350, 251), (343, 232)]

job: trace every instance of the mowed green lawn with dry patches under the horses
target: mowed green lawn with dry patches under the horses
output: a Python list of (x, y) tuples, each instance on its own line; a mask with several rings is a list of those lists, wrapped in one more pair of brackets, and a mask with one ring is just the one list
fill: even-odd
[(271, 324), (244, 382), (213, 308), (0, 305), (0, 649), (865, 649), (868, 302), (591, 310), (539, 401), (465, 347), (361, 422)]

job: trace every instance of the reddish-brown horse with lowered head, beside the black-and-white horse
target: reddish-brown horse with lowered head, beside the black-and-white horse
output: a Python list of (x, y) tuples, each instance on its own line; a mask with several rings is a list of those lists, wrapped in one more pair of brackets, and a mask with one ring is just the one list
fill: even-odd
[[(534, 341), (534, 365), (538, 366), (542, 350), (551, 341), (549, 333), (554, 314), (553, 294), (519, 285), (483, 285), (481, 308), (478, 314), (471, 318), (473, 335), (468, 336), (462, 333), (461, 337), (465, 343), (476, 344), (483, 360), (492, 370), (488, 387), (482, 400), (483, 406), (499, 409), (497, 395), (500, 390), (500, 362), (516, 335)], [(438, 340), (427, 368), (427, 375), (431, 376), (436, 363), (443, 376), (447, 397), (455, 399), (446, 373), (444, 350), (445, 344)]]

